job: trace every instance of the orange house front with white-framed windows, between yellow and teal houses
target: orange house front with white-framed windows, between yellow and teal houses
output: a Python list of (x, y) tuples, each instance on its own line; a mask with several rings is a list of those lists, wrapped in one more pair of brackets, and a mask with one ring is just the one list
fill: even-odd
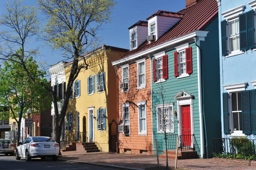
[(153, 155), (150, 59), (112, 62), (118, 72), (118, 147), (120, 153)]

